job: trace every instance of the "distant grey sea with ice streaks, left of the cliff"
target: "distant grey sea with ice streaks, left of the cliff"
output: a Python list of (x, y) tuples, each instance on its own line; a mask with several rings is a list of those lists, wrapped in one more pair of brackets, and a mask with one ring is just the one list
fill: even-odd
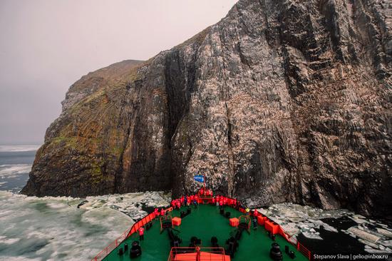
[(19, 191), (29, 180), (29, 172), (39, 145), (0, 145), (0, 190)]

